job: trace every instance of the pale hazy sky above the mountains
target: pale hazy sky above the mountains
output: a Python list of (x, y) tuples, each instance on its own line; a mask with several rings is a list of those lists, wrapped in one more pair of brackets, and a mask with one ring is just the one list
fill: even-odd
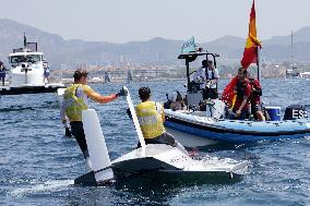
[[(0, 0), (0, 19), (64, 39), (128, 43), (154, 37), (207, 43), (247, 37), (252, 0)], [(260, 39), (310, 26), (310, 0), (255, 0)]]

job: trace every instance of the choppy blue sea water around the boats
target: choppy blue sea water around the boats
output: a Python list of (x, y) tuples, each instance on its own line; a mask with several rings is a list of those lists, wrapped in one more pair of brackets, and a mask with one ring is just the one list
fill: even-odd
[[(155, 100), (184, 92), (184, 81), (131, 83), (150, 86)], [(219, 87), (227, 84), (220, 81)], [(263, 80), (266, 105), (306, 105), (310, 109), (310, 81)], [(122, 84), (93, 85), (102, 94)], [(100, 119), (111, 159), (135, 147), (138, 136), (126, 113), (126, 99), (91, 102)], [(261, 142), (253, 145), (201, 148), (200, 156), (248, 159), (248, 172), (233, 182), (169, 184), (133, 179), (102, 187), (73, 185), (85, 173), (78, 144), (63, 136), (59, 105), (52, 94), (7, 96), (0, 99), (0, 204), (1, 205), (310, 205), (310, 137)]]

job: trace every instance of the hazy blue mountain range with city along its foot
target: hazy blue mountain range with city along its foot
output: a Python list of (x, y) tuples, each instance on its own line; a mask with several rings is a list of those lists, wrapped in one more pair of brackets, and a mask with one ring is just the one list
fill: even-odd
[[(182, 40), (153, 38), (148, 41), (111, 44), (107, 41), (64, 40), (15, 21), (0, 20), (0, 60), (8, 63), (8, 54), (23, 45), (23, 34), (27, 41), (37, 41), (39, 51), (55, 69), (81, 65), (176, 65), (183, 62), (177, 57)], [(193, 34), (194, 35), (194, 34)], [(294, 33), (294, 59), (310, 62), (310, 26)], [(198, 44), (210, 52), (220, 54), (219, 63), (228, 64), (241, 59), (246, 38), (223, 36), (216, 40)], [(261, 57), (264, 62), (291, 61), (291, 35), (274, 36), (262, 40)]]

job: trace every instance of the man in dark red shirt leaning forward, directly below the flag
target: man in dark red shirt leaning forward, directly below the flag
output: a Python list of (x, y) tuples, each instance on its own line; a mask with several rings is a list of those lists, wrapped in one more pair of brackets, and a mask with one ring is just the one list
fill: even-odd
[(251, 95), (251, 85), (248, 80), (248, 71), (240, 68), (238, 70), (238, 82), (235, 87), (235, 93), (237, 95), (233, 108), (233, 112), (235, 112), (235, 119), (245, 120), (249, 118), (249, 97)]

